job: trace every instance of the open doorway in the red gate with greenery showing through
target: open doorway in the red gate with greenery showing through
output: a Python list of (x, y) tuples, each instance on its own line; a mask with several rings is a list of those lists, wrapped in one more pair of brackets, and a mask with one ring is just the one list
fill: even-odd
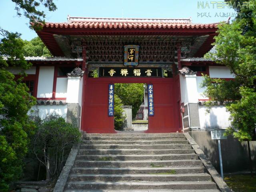
[(118, 131), (148, 130), (147, 84), (114, 84), (114, 128)]

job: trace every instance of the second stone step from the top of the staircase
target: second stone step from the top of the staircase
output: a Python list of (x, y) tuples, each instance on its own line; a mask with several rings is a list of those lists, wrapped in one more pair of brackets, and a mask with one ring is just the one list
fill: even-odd
[(139, 144), (139, 145), (155, 145), (155, 144), (189, 144), (187, 140), (134, 140), (134, 141), (122, 141), (122, 140), (83, 140), (83, 144)]

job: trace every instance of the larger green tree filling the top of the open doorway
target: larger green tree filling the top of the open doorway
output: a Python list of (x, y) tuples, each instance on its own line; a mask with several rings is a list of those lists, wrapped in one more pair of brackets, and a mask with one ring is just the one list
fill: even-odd
[(143, 84), (142, 83), (116, 83), (115, 94), (122, 100), (124, 105), (132, 106), (132, 118), (136, 117), (136, 114), (143, 101)]

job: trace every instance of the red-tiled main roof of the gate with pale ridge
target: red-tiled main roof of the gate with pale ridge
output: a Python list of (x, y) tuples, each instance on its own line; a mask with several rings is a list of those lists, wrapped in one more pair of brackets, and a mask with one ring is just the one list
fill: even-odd
[(68, 22), (45, 23), (46, 28), (217, 28), (218, 24), (193, 24), (191, 19), (138, 19), (70, 17)]

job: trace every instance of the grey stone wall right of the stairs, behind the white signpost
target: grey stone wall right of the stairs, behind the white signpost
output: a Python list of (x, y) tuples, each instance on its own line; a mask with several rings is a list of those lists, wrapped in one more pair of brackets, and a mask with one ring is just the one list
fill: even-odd
[[(204, 151), (216, 170), (220, 172), (218, 140), (212, 140), (211, 133), (208, 131), (192, 131), (189, 134)], [(241, 143), (232, 136), (228, 136), (228, 139), (221, 140), (220, 143), (224, 173), (249, 170), (247, 142)], [(253, 169), (256, 170), (256, 141), (250, 142), (250, 148)]]

